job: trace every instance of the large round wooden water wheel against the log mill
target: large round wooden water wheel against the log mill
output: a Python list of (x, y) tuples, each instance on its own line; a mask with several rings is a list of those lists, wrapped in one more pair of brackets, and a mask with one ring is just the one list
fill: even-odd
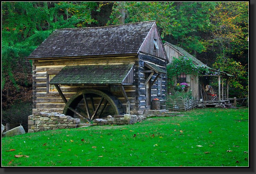
[(66, 103), (63, 114), (84, 117), (87, 120), (108, 115), (123, 114), (123, 106), (117, 97), (108, 92), (85, 89), (74, 94)]

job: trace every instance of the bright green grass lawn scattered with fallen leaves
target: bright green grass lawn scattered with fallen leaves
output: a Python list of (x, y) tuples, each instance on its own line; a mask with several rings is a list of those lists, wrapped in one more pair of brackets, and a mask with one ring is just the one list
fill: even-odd
[(155, 117), (134, 125), (4, 137), (2, 166), (249, 165), (248, 108), (195, 109), (181, 114), (184, 117)]

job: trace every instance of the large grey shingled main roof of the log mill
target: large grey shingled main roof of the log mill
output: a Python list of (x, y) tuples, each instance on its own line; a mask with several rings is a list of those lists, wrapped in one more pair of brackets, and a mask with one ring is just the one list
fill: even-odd
[(137, 54), (155, 21), (56, 29), (29, 59)]

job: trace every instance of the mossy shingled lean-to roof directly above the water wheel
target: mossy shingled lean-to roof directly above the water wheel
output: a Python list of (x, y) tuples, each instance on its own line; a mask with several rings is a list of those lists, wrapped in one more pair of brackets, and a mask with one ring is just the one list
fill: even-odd
[(122, 84), (134, 64), (65, 66), (50, 84)]

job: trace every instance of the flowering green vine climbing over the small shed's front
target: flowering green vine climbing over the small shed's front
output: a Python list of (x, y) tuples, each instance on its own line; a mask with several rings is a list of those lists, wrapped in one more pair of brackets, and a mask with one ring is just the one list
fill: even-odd
[(205, 65), (195, 65), (192, 62), (192, 58), (183, 56), (180, 59), (173, 57), (173, 61), (167, 65), (167, 78), (169, 78), (168, 88), (173, 86), (173, 77), (181, 74), (182, 72), (186, 74), (208, 74), (209, 69)]

